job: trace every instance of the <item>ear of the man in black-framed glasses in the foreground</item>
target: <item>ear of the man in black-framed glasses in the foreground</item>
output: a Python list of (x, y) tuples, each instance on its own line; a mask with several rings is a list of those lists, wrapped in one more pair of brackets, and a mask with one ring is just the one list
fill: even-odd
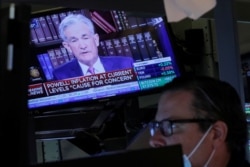
[(214, 146), (218, 147), (222, 143), (225, 142), (227, 138), (227, 133), (228, 133), (228, 127), (225, 122), (223, 121), (217, 121), (213, 124), (213, 131), (214, 131)]

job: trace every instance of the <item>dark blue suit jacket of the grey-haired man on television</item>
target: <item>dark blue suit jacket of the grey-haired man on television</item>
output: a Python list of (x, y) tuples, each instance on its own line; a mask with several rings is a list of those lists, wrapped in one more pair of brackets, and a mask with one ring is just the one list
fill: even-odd
[[(131, 57), (123, 56), (105, 56), (100, 57), (101, 63), (104, 66), (106, 72), (133, 68), (133, 59)], [(80, 65), (77, 62), (77, 59), (63, 64), (62, 66), (56, 68), (53, 71), (54, 79), (61, 80), (73, 77), (83, 76)]]

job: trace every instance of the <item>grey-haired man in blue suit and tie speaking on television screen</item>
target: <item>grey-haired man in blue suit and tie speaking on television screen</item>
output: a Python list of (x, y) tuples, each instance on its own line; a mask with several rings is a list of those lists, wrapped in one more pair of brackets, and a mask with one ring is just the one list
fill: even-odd
[(53, 71), (55, 80), (133, 68), (133, 58), (127, 56), (99, 56), (99, 35), (93, 22), (81, 15), (68, 15), (59, 25), (62, 45), (75, 59)]

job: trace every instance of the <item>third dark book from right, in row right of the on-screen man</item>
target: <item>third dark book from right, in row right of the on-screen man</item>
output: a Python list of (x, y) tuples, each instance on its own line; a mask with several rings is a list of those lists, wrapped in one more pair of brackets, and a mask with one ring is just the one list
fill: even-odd
[(142, 61), (143, 59), (141, 57), (140, 49), (136, 42), (136, 38), (134, 34), (128, 35), (128, 42), (129, 42), (129, 46), (131, 48), (131, 52), (132, 52), (135, 62)]

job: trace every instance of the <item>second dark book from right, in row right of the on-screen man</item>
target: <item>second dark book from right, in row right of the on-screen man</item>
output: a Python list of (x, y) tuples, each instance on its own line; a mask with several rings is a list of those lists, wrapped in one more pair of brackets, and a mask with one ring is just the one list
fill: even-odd
[(146, 43), (144, 41), (142, 33), (136, 33), (135, 39), (136, 39), (136, 42), (138, 44), (142, 59), (143, 60), (150, 60), (151, 58), (150, 58), (150, 55), (149, 55), (149, 52), (148, 52), (148, 49), (147, 49), (147, 46), (146, 46)]

